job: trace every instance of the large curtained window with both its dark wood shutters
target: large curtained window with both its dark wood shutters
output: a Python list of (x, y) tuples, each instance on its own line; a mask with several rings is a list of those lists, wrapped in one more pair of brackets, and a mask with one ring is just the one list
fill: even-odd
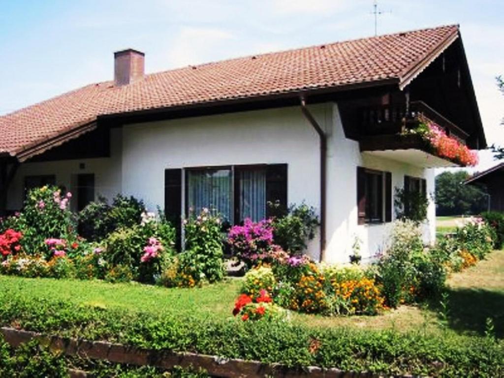
[(208, 208), (230, 224), (245, 218), (260, 221), (287, 209), (287, 164), (185, 168), (184, 172), (182, 183), (181, 169), (165, 171), (165, 211), (171, 219), (180, 219), (181, 195), (186, 214)]

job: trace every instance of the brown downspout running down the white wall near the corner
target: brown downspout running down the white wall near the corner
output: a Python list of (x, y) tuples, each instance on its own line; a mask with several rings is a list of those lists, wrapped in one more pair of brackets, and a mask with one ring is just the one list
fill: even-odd
[(320, 261), (324, 261), (326, 256), (326, 156), (327, 156), (327, 137), (326, 133), (320, 127), (313, 115), (306, 107), (306, 99), (301, 94), (301, 111), (304, 117), (310, 122), (311, 126), (320, 139)]

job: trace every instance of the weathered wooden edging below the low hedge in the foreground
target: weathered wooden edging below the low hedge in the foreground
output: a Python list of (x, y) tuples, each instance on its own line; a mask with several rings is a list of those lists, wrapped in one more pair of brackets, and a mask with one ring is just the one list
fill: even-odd
[[(379, 378), (381, 375), (370, 372), (342, 371), (339, 369), (323, 369), (308, 366), (304, 369), (289, 368), (280, 364), (267, 364), (258, 361), (242, 359), (227, 359), (205, 354), (188, 352), (170, 352), (151, 349), (141, 349), (122, 344), (112, 344), (103, 341), (88, 341), (59, 336), (45, 336), (40, 333), (17, 330), (9, 327), (0, 328), (0, 333), (6, 342), (17, 347), (21, 343), (37, 339), (42, 345), (52, 350), (58, 350), (67, 356), (106, 360), (114, 363), (130, 365), (150, 365), (162, 369), (170, 369), (175, 365), (182, 367), (203, 368), (210, 375), (224, 378), (253, 377), (260, 378), (273, 375), (285, 378)], [(71, 371), (72, 376), (85, 377), (86, 373)], [(411, 377), (411, 375), (402, 375)]]

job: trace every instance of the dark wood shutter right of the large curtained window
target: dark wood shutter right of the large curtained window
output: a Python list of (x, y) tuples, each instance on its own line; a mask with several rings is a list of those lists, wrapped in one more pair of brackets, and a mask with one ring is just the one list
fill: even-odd
[(287, 207), (287, 164), (269, 164), (266, 168), (266, 217), (286, 214)]

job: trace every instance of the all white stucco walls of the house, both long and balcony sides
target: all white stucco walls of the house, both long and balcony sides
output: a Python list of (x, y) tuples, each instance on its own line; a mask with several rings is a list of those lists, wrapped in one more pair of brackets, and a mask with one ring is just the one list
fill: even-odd
[[(434, 191), (434, 172), (361, 154), (358, 143), (344, 137), (338, 106), (310, 106), (328, 135), (326, 261), (348, 262), (355, 236), (362, 240), (364, 261), (384, 250), (391, 223), (357, 224), (357, 166), (392, 172), (394, 187), (404, 175), (427, 179)], [(112, 131), (111, 157), (22, 164), (10, 187), (9, 209), (19, 209), (24, 177), (55, 174), (56, 183), (72, 190), (72, 176), (94, 173), (95, 194), (124, 193), (141, 198), (155, 210), (164, 205), (164, 170), (232, 164), (288, 164), (288, 202), (305, 202), (320, 214), (319, 137), (299, 107), (257, 110), (141, 124)], [(80, 169), (85, 163), (85, 169)], [(183, 198), (183, 197), (182, 197)], [(428, 209), (425, 241), (435, 238), (435, 207)], [(319, 258), (319, 235), (308, 254)]]

